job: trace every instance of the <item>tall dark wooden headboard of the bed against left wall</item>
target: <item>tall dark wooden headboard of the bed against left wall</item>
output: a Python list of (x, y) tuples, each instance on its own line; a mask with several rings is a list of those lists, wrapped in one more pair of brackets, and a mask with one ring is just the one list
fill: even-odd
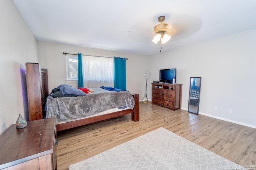
[(45, 117), (44, 106), (48, 91), (48, 72), (38, 63), (26, 63), (29, 121)]

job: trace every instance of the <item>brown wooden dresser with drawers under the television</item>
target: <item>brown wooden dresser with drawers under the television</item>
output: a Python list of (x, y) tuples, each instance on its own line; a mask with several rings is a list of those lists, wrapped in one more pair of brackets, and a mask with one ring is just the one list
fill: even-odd
[(152, 83), (152, 104), (181, 109), (182, 84)]

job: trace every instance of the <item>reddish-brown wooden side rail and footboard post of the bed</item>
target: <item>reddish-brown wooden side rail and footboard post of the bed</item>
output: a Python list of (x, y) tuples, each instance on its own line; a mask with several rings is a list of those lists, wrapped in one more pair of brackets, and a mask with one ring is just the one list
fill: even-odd
[(75, 120), (75, 121), (57, 124), (56, 125), (57, 131), (62, 131), (65, 129), (70, 129), (70, 128), (78, 127), (78, 126), (82, 126), (82, 125), (87, 125), (90, 123), (94, 123), (94, 122), (102, 121), (102, 120), (106, 120), (106, 119), (111, 119), (114, 117), (129, 114), (129, 113), (132, 113), (132, 121), (139, 121), (140, 120), (139, 94), (132, 94), (132, 96), (135, 100), (135, 105), (134, 105), (133, 109), (126, 109), (126, 110), (116, 111), (116, 112), (108, 113), (108, 114), (104, 114), (104, 115), (98, 115), (98, 116), (93, 116), (93, 117), (88, 117), (88, 118), (84, 118), (84, 119), (79, 119), (79, 120)]

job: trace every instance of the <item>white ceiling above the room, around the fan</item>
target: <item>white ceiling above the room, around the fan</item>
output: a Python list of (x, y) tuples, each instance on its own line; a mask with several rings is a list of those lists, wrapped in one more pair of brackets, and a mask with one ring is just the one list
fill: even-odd
[(256, 29), (256, 0), (13, 1), (40, 41), (142, 55), (160, 53), (159, 16), (173, 29), (162, 51)]

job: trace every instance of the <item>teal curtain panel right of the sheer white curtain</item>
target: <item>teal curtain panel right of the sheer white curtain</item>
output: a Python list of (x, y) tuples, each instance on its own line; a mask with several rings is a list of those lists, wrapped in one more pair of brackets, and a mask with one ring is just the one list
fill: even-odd
[(114, 57), (114, 88), (126, 90), (126, 59)]

